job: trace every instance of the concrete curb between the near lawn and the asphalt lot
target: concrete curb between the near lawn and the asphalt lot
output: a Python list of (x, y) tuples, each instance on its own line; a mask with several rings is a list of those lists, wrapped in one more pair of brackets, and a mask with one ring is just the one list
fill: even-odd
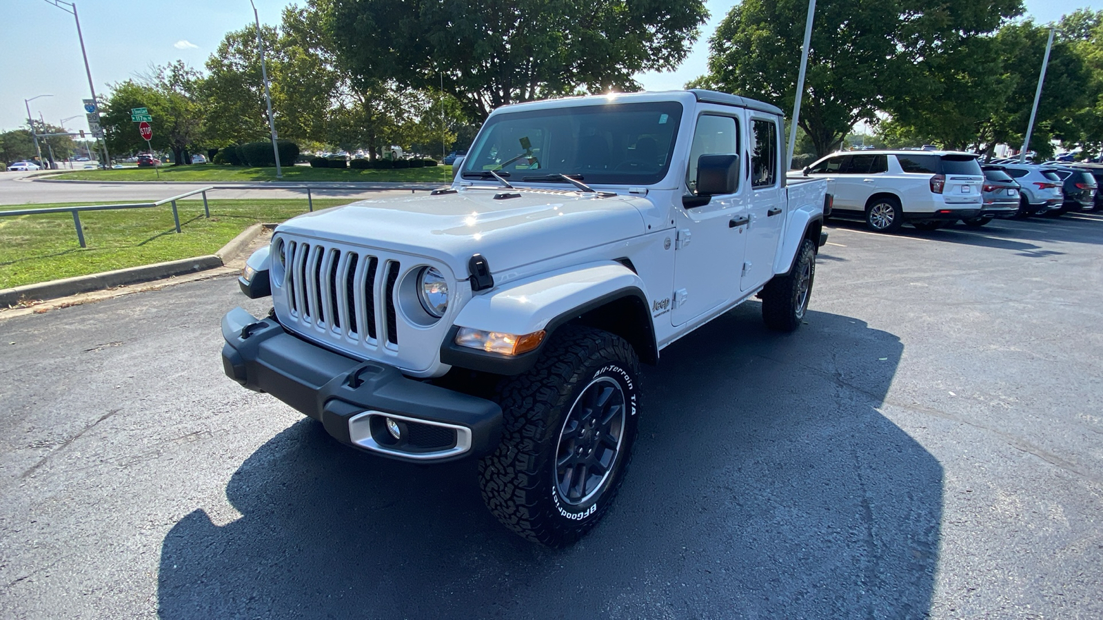
[(128, 267), (126, 269), (115, 269), (114, 271), (0, 289), (0, 308), (11, 308), (23, 301), (68, 297), (71, 295), (105, 288), (148, 282), (195, 271), (204, 271), (206, 269), (215, 269), (224, 266), (240, 254), (264, 228), (275, 227), (276, 224), (254, 224), (231, 239), (229, 243), (222, 246), (222, 249), (210, 256), (196, 256), (194, 258), (154, 263), (153, 265), (142, 265), (141, 267)]

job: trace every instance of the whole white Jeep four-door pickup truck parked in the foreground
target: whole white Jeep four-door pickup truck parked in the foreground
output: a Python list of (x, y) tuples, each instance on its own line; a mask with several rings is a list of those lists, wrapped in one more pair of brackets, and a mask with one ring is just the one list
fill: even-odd
[(506, 527), (570, 544), (608, 510), (636, 436), (640, 364), (758, 296), (804, 319), (823, 180), (785, 179), (782, 113), (708, 90), (505, 106), (450, 188), (300, 215), (222, 321), (226, 374), (339, 441), (478, 458)]

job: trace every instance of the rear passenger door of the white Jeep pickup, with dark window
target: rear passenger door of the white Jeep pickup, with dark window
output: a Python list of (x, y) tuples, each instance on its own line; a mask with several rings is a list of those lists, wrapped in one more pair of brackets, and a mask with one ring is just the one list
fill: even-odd
[(750, 117), (747, 157), (750, 167), (751, 222), (747, 229), (739, 290), (765, 284), (773, 277), (773, 257), (785, 224), (785, 190), (781, 186), (780, 131), (775, 117)]

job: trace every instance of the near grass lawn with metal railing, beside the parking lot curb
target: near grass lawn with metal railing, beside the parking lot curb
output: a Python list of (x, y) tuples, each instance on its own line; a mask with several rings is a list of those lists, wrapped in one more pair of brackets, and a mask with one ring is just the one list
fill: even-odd
[[(314, 209), (354, 202), (315, 199)], [(0, 210), (73, 206), (82, 203), (8, 205)], [(81, 214), (82, 248), (69, 213), (0, 217), (0, 288), (124, 267), (150, 265), (214, 254), (256, 222), (282, 222), (307, 211), (302, 200), (212, 200), (211, 218), (203, 203), (179, 203), (181, 234), (172, 224), (172, 207), (93, 211)]]

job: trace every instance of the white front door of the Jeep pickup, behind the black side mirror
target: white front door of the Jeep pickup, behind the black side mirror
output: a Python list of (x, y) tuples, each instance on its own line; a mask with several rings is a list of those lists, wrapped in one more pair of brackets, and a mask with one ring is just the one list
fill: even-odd
[(739, 290), (747, 246), (746, 179), (740, 174), (736, 193), (709, 196), (705, 204), (705, 196), (698, 196), (696, 191), (697, 159), (703, 154), (739, 153), (739, 138), (740, 119), (736, 116), (704, 114), (697, 118), (686, 165), (685, 196), (675, 209), (671, 299), (674, 327), (722, 306)]

